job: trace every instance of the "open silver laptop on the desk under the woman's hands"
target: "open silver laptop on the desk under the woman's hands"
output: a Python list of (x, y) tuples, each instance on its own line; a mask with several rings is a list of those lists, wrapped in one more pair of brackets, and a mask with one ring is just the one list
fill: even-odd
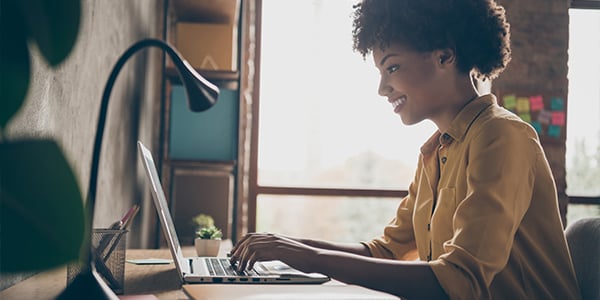
[(152, 185), (158, 219), (183, 283), (323, 283), (330, 280), (323, 274), (304, 273), (277, 260), (257, 262), (252, 270), (239, 273), (226, 257), (184, 257), (152, 153), (140, 141), (138, 152)]

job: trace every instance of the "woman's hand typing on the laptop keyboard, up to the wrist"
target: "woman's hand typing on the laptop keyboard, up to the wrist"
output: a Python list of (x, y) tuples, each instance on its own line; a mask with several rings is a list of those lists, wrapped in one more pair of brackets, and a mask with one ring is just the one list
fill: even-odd
[(252, 269), (254, 263), (265, 260), (281, 260), (303, 272), (314, 272), (310, 257), (318, 249), (289, 237), (270, 233), (250, 233), (244, 236), (231, 251), (231, 263), (237, 270)]

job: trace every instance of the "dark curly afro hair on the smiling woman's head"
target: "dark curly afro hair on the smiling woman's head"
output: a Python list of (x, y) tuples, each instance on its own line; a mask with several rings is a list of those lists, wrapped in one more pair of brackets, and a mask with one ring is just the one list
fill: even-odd
[(354, 50), (400, 43), (415, 51), (453, 49), (459, 71), (496, 78), (510, 61), (510, 26), (494, 0), (363, 0), (354, 6)]

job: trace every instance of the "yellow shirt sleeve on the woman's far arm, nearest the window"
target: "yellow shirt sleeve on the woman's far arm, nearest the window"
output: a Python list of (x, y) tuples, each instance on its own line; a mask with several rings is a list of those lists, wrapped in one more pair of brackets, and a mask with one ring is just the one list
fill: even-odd
[[(420, 166), (417, 172), (420, 174)], [(414, 195), (416, 193), (416, 180), (410, 184), (408, 195), (404, 197), (396, 211), (396, 217), (384, 228), (383, 235), (368, 242), (362, 242), (369, 248), (371, 256), (376, 258), (403, 259), (414, 255), (416, 250), (415, 234), (413, 230), (412, 215), (414, 209)]]

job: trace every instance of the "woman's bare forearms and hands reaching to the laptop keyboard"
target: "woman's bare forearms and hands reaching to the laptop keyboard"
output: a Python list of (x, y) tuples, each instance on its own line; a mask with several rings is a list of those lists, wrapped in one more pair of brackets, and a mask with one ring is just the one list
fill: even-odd
[(310, 243), (346, 250), (357, 247), (322, 241), (303, 243), (274, 234), (250, 234), (234, 247), (231, 260), (242, 270), (251, 268), (257, 261), (278, 259), (303, 272), (322, 273), (342, 282), (402, 297), (447, 298), (427, 263), (366, 257), (352, 251), (317, 248)]

